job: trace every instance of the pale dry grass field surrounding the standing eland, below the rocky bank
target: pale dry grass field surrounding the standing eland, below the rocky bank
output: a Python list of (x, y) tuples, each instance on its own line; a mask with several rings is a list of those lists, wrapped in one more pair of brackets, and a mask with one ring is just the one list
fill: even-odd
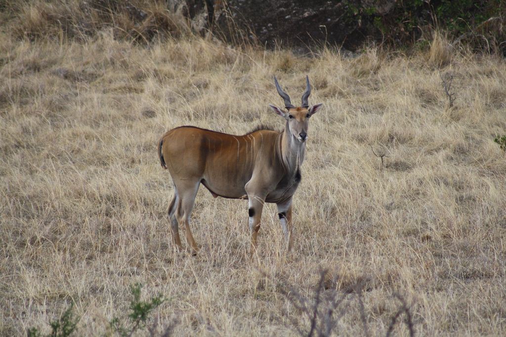
[[(437, 35), (441, 37), (441, 35)], [(453, 107), (441, 74), (452, 74)], [(159, 137), (179, 125), (244, 134), (282, 129), (273, 75), (299, 102), (314, 86), (296, 245), (284, 252), (275, 206), (264, 208), (259, 252), (247, 255), (247, 201), (201, 188), (192, 217), (201, 245), (175, 252), (165, 209), (172, 182)], [(77, 334), (107, 332), (129, 286), (167, 299), (158, 330), (176, 335), (292, 335), (309, 320), (280, 293), (347, 293), (334, 333), (384, 335), (410, 306), (423, 335), (500, 335), (506, 328), (506, 67), (498, 56), (450, 49), (230, 48), (167, 39), (150, 47), (96, 37), (0, 36), (0, 331), (26, 334), (74, 303)], [(386, 154), (384, 165), (376, 154)], [(264, 275), (267, 275), (267, 277)], [(402, 317), (399, 318), (402, 320)], [(297, 325), (297, 326), (294, 326)], [(394, 330), (407, 335), (404, 325)]]

